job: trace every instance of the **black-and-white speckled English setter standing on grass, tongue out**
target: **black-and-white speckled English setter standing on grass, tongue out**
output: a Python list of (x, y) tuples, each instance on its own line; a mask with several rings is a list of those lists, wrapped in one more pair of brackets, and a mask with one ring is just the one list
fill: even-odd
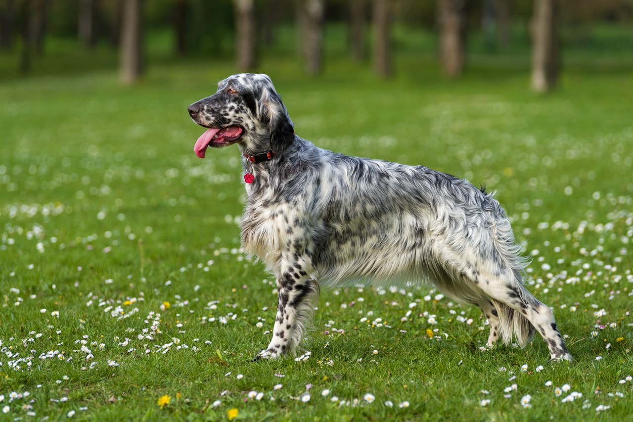
[(238, 74), (188, 108), (208, 128), (194, 151), (237, 143), (248, 203), (245, 250), (277, 279), (277, 317), (257, 359), (295, 354), (319, 285), (430, 282), (477, 305), (490, 323), (487, 347), (536, 330), (551, 359), (570, 361), (546, 305), (523, 287), (519, 256), (498, 201), (468, 181), (423, 167), (322, 150), (294, 133), (270, 77)]

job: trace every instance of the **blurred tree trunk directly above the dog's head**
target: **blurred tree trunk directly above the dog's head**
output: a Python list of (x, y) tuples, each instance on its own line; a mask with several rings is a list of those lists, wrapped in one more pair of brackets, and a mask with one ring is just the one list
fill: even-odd
[(236, 60), (240, 70), (252, 70), (256, 65), (255, 58), (255, 4), (253, 0), (234, 0)]

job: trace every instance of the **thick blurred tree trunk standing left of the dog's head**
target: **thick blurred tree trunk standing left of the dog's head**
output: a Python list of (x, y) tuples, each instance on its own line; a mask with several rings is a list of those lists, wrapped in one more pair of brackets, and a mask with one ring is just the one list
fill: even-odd
[(142, 0), (126, 0), (123, 6), (120, 79), (134, 84), (143, 71)]

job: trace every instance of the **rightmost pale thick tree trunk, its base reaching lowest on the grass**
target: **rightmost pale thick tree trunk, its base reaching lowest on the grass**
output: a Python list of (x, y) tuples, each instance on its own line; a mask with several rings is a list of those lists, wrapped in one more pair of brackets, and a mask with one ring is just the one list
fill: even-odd
[(559, 68), (557, 0), (536, 0), (532, 18), (532, 88), (541, 93), (556, 86)]

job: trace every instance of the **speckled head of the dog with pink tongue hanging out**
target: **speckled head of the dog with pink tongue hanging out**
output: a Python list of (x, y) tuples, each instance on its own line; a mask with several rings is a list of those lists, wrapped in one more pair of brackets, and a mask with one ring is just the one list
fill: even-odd
[(194, 122), (208, 127), (194, 146), (200, 158), (208, 146), (237, 142), (249, 153), (279, 153), (294, 140), (292, 121), (268, 75), (232, 75), (220, 81), (215, 94), (187, 110)]

